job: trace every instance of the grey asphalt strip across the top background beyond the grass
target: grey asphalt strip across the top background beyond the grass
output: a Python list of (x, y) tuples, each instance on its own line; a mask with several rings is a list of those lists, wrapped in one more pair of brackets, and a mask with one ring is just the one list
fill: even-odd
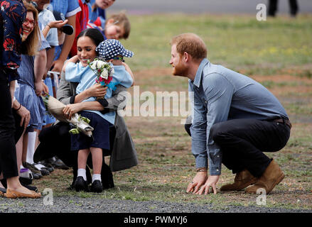
[[(148, 13), (247, 13), (256, 14), (257, 4), (269, 0), (117, 0), (107, 11)], [(299, 13), (312, 13), (311, 0), (297, 0)], [(278, 13), (289, 13), (289, 1), (279, 0)]]

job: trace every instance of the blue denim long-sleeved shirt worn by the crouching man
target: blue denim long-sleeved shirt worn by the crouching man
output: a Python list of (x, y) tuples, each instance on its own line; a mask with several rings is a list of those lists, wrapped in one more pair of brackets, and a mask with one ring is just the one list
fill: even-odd
[(288, 118), (279, 100), (262, 84), (213, 65), (206, 58), (188, 85), (189, 92), (194, 92), (192, 153), (197, 168), (208, 167), (209, 162), (210, 175), (220, 175), (222, 164), (220, 148), (210, 138), (210, 128), (215, 123), (239, 118)]

